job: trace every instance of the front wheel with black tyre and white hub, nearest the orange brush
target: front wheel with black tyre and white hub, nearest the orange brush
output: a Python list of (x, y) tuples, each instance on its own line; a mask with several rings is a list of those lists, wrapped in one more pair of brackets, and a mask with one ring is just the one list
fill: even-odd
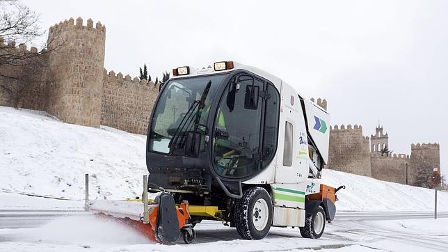
[(273, 208), (269, 193), (262, 187), (246, 189), (234, 210), (235, 226), (241, 238), (262, 239), (266, 237), (271, 229), (272, 219)]

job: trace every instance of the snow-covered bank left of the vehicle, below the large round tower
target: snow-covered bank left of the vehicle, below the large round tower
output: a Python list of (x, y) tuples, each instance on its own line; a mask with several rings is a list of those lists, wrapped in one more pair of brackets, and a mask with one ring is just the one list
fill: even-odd
[(145, 136), (61, 123), (42, 111), (0, 107), (0, 189), (83, 198), (141, 195)]

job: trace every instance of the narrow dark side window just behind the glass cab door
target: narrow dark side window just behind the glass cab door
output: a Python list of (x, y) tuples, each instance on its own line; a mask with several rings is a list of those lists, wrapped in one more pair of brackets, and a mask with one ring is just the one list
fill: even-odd
[(267, 100), (263, 133), (263, 167), (275, 157), (278, 142), (278, 118), (280, 116), (280, 94), (272, 84), (266, 88)]

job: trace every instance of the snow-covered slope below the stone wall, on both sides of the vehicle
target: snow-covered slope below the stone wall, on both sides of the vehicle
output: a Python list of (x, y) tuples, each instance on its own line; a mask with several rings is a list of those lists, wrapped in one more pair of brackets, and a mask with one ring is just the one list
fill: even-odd
[[(0, 107), (0, 172), (1, 191), (82, 200), (84, 173), (89, 173), (90, 198), (134, 198), (147, 174), (145, 136), (61, 123), (42, 111)], [(323, 171), (323, 182), (346, 185), (338, 192), (338, 210), (433, 209), (430, 189), (332, 170)], [(13, 201), (1, 200), (1, 205)], [(447, 192), (439, 193), (438, 203), (448, 211)]]

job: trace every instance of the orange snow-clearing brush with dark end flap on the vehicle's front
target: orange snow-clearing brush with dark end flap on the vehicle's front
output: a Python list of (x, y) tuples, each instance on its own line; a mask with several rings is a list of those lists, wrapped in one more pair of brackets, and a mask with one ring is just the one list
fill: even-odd
[(148, 205), (148, 223), (143, 221), (143, 203), (126, 200), (91, 200), (89, 211), (101, 219), (113, 220), (147, 237), (152, 242), (173, 244), (183, 235), (186, 243), (194, 241), (195, 232), (189, 225), (188, 203), (179, 206), (173, 196), (161, 194)]

